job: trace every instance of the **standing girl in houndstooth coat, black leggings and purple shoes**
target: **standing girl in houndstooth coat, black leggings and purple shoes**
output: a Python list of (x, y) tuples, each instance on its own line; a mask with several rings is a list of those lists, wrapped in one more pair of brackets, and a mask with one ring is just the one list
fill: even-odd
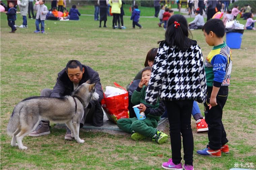
[[(162, 164), (165, 169), (193, 170), (194, 141), (191, 111), (194, 100), (206, 100), (203, 56), (195, 40), (188, 38), (188, 24), (183, 15), (173, 15), (167, 22), (165, 40), (159, 48), (146, 92), (146, 102), (163, 100), (167, 110), (171, 155)], [(185, 164), (181, 163), (181, 134)]]

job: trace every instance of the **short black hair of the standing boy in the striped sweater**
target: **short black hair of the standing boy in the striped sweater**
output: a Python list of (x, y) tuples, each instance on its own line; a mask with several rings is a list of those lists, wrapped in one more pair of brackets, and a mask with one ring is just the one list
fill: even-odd
[(225, 35), (225, 26), (220, 19), (210, 19), (202, 27), (207, 35), (212, 31), (217, 37), (222, 38)]

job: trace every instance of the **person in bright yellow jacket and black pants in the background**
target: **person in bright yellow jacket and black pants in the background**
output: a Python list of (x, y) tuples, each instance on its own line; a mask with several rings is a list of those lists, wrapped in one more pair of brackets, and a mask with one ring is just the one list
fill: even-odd
[[(113, 14), (113, 21), (112, 21), (113, 29), (116, 29), (116, 28), (121, 29), (120, 13), (121, 13), (122, 1), (121, 0), (108, 0), (108, 3), (111, 6), (111, 13)], [(117, 22), (118, 22), (118, 27), (117, 27)]]

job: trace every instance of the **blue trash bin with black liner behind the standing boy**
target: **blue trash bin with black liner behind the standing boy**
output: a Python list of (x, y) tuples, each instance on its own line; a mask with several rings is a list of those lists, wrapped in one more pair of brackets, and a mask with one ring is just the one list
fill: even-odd
[(229, 48), (239, 49), (241, 47), (244, 30), (226, 29), (226, 44)]

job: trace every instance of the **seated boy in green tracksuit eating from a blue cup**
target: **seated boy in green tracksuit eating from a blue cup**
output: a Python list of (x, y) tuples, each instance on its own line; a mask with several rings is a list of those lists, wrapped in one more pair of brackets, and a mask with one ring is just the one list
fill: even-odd
[(161, 115), (164, 113), (164, 103), (159, 101), (156, 105), (151, 105), (145, 101), (146, 90), (151, 76), (152, 67), (146, 67), (142, 70), (142, 78), (137, 89), (133, 92), (131, 102), (135, 105), (140, 104), (138, 109), (143, 111), (146, 119), (138, 120), (137, 118), (124, 118), (117, 121), (117, 126), (132, 133), (133, 140), (140, 140), (146, 137), (152, 138), (159, 144), (168, 139), (168, 135), (156, 129)]

